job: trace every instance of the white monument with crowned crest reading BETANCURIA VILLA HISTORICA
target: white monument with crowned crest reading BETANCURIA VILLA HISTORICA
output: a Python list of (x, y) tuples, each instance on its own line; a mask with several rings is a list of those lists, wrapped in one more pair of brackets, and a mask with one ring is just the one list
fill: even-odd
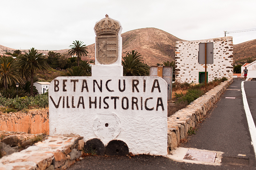
[(98, 138), (105, 146), (121, 140), (133, 154), (167, 155), (167, 83), (156, 76), (119, 75), (121, 25), (108, 16), (95, 29), (99, 23), (103, 23), (100, 30), (110, 28), (109, 23), (115, 30), (119, 27), (116, 41), (106, 38), (113, 36), (110, 33), (100, 37), (96, 30), (92, 77), (58, 77), (51, 82), (50, 135), (77, 134), (85, 142)]

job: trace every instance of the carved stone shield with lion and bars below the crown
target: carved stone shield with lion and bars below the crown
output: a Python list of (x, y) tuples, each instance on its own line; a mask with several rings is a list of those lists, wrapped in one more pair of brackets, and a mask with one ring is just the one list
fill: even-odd
[(96, 58), (100, 64), (115, 63), (118, 58), (118, 36), (96, 37)]

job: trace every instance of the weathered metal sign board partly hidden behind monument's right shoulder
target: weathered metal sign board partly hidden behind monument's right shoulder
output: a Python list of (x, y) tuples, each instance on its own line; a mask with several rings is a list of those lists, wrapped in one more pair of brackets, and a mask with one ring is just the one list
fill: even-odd
[(168, 85), (167, 88), (167, 100), (172, 99), (172, 67), (170, 66), (151, 66), (149, 70), (149, 76), (158, 76), (163, 78)]

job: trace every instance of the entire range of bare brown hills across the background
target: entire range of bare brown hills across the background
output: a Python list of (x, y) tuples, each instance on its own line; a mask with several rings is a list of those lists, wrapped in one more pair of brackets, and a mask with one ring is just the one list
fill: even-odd
[[(148, 65), (156, 65), (166, 61), (174, 61), (175, 58), (175, 42), (184, 41), (170, 33), (157, 28), (141, 28), (128, 31), (121, 34), (123, 39), (122, 56), (125, 53), (137, 50)], [(82, 60), (95, 60), (95, 44), (87, 46), (88, 56), (82, 57)], [(0, 45), (0, 54), (6, 51), (13, 53), (15, 49)], [(28, 50), (21, 50), (22, 53)], [(38, 50), (45, 55), (48, 50)], [(68, 49), (53, 50), (56, 53), (68, 56)], [(243, 60), (247, 57), (256, 56), (256, 40), (246, 41), (234, 45), (234, 60)]]

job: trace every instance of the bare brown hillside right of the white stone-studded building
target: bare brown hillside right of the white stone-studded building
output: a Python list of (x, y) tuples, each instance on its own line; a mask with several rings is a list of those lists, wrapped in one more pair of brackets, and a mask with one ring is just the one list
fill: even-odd
[(241, 61), (247, 57), (256, 57), (256, 39), (236, 45), (234, 44), (233, 48), (235, 61)]

